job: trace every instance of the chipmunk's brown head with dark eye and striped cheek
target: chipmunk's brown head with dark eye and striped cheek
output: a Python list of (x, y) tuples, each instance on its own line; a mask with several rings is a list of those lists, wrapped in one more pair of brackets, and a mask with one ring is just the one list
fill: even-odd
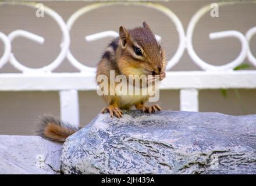
[(119, 37), (118, 66), (122, 74), (154, 75), (164, 70), (164, 52), (146, 22), (132, 30), (120, 26)]

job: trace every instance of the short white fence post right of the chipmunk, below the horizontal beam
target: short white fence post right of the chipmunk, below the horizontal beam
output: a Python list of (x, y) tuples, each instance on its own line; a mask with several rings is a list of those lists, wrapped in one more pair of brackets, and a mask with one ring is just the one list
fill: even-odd
[(198, 112), (198, 90), (180, 90), (180, 110)]

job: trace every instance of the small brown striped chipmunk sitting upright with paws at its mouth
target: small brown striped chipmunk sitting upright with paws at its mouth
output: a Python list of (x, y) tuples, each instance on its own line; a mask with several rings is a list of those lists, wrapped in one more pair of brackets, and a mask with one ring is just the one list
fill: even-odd
[[(165, 78), (165, 66), (165, 51), (157, 42), (148, 24), (143, 22), (143, 27), (131, 30), (120, 26), (119, 37), (110, 42), (98, 63), (96, 77), (103, 74), (109, 79), (110, 71), (114, 70), (115, 77), (153, 75), (148, 77), (147, 81), (154, 81), (155, 78), (162, 80)], [(116, 84), (108, 84), (110, 89), (115, 89), (115, 86)], [(109, 112), (111, 117), (119, 118), (123, 116), (122, 109), (130, 109), (133, 105), (147, 113), (161, 110), (159, 105), (144, 105), (149, 97), (149, 95), (103, 95), (108, 107), (103, 108), (101, 112)], [(51, 141), (64, 142), (69, 135), (78, 130), (80, 127), (46, 116), (41, 120), (37, 134)]]

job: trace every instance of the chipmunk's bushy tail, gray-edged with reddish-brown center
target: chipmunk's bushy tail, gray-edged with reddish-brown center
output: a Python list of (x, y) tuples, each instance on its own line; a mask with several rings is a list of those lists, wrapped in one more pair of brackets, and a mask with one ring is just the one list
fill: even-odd
[(64, 142), (67, 137), (76, 133), (80, 128), (72, 126), (52, 116), (44, 116), (41, 119), (36, 133), (47, 140)]

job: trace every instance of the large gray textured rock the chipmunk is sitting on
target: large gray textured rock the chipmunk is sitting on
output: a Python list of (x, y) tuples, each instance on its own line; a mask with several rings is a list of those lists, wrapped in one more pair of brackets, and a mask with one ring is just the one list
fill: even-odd
[(256, 174), (256, 115), (136, 110), (67, 138), (65, 174)]

